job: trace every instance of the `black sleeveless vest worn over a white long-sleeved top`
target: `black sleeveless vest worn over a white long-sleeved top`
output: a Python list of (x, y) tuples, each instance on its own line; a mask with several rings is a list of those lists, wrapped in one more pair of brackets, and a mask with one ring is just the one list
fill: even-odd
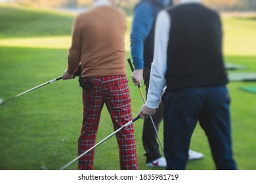
[(223, 63), (221, 21), (198, 3), (167, 9), (167, 91), (228, 83)]

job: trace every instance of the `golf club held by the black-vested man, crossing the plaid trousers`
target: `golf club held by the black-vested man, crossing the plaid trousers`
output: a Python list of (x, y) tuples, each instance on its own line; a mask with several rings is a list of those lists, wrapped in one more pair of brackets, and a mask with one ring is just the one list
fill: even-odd
[(60, 170), (64, 170), (67, 167), (69, 167), (70, 165), (72, 165), (75, 161), (77, 161), (77, 159), (81, 158), (82, 156), (85, 156), (85, 154), (87, 154), (88, 152), (90, 152), (91, 150), (93, 150), (94, 148), (96, 148), (96, 146), (99, 146), (100, 144), (102, 144), (103, 142), (105, 142), (106, 140), (110, 139), (110, 137), (112, 137), (113, 135), (115, 135), (118, 131), (120, 131), (121, 129), (133, 124), (133, 122), (135, 122), (136, 120), (139, 120), (140, 115), (138, 115), (136, 118), (134, 118), (133, 120), (131, 120), (130, 122), (128, 122), (127, 124), (123, 125), (122, 127), (120, 127), (119, 129), (117, 129), (116, 131), (114, 131), (113, 133), (111, 133), (110, 135), (108, 135), (108, 137), (106, 137), (105, 139), (103, 139), (102, 141), (98, 142), (97, 144), (95, 144), (94, 146), (92, 146), (91, 148), (89, 148), (89, 150), (83, 152), (83, 154), (77, 156), (77, 158), (73, 159), (72, 161), (70, 161), (69, 163), (67, 163), (66, 165), (64, 165), (63, 167), (60, 168)]

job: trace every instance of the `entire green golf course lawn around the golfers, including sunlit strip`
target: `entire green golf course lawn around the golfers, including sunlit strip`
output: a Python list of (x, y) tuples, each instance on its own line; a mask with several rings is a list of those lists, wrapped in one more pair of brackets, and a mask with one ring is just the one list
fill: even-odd
[[(0, 5), (0, 15), (1, 98), (9, 99), (62, 75), (66, 69), (66, 54), (74, 16), (3, 5)], [(127, 58), (131, 58), (128, 48), (131, 18), (127, 20)], [(255, 18), (223, 17), (223, 26), (225, 61), (244, 65), (248, 72), (256, 72), (256, 46), (251, 44), (256, 42)], [(43, 42), (45, 39), (47, 41)], [(143, 101), (138, 88), (131, 82), (129, 65), (127, 71), (133, 116), (136, 116)], [(238, 88), (255, 85), (255, 82), (228, 84), (232, 97), (234, 157), (242, 170), (256, 169), (256, 95)], [(142, 90), (144, 91), (144, 86)], [(1, 105), (0, 169), (39, 169), (41, 165), (49, 169), (59, 169), (77, 157), (77, 138), (81, 122), (81, 88), (77, 78), (56, 81)], [(134, 125), (140, 169), (162, 170), (163, 168), (145, 166), (141, 141), (142, 120)], [(161, 124), (161, 141), (162, 131)], [(97, 142), (112, 132), (110, 115), (104, 107)], [(205, 158), (188, 161), (186, 169), (215, 169), (207, 139), (199, 125), (192, 137), (191, 148), (203, 152)], [(77, 169), (77, 162), (68, 169)], [(96, 148), (95, 169), (119, 169), (115, 137)]]

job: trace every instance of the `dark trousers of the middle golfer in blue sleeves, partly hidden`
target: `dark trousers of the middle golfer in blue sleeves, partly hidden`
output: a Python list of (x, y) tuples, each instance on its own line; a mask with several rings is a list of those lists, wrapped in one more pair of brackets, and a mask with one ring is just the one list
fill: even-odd
[[(146, 86), (146, 94), (148, 94), (150, 80), (149, 68), (145, 68), (143, 70), (143, 79)], [(161, 120), (163, 119), (163, 108), (156, 109), (156, 113), (154, 114), (154, 116), (152, 116), (152, 118), (154, 121), (154, 125), (156, 126), (156, 129), (158, 131)], [(146, 151), (146, 153), (144, 154), (144, 156), (146, 156), (146, 163), (150, 163), (151, 161), (161, 158), (156, 131), (154, 129), (154, 126), (152, 125), (152, 121), (150, 118), (144, 120), (142, 142), (144, 150)]]

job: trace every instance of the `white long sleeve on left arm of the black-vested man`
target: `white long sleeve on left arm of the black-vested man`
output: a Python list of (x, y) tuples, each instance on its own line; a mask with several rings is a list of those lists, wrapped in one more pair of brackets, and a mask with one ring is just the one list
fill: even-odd
[(161, 10), (156, 18), (154, 38), (154, 59), (151, 65), (150, 84), (146, 106), (158, 108), (161, 94), (165, 87), (165, 73), (167, 70), (167, 48), (171, 18), (166, 10)]

